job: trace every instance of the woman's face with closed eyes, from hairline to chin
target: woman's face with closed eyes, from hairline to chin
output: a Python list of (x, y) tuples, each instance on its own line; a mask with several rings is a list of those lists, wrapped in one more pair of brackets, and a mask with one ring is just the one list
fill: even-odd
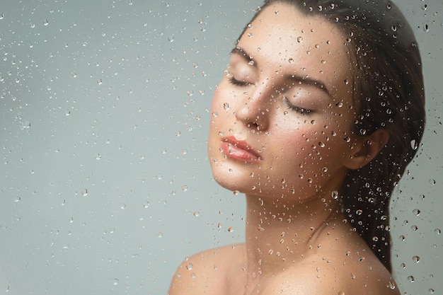
[(212, 101), (218, 183), (300, 200), (340, 187), (357, 140), (347, 37), (287, 4), (248, 25)]

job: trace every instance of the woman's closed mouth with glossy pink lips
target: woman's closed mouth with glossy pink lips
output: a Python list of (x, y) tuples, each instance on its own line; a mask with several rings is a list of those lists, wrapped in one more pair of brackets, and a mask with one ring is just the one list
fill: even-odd
[(244, 140), (235, 137), (224, 137), (222, 139), (222, 151), (229, 158), (246, 163), (258, 163), (262, 161), (260, 154)]

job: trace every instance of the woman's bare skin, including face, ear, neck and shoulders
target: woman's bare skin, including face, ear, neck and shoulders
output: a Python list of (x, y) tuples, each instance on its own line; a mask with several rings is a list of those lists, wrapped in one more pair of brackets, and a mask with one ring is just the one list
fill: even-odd
[(193, 255), (169, 295), (400, 294), (336, 197), (389, 139), (355, 135), (347, 37), (287, 4), (248, 26), (214, 93), (208, 139), (214, 179), (246, 195), (246, 243)]

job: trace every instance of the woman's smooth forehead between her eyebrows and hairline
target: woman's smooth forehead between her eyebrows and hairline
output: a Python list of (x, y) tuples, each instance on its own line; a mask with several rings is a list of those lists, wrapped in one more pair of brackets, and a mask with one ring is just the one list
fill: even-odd
[(247, 26), (238, 47), (261, 71), (311, 76), (337, 92), (338, 83), (352, 79), (347, 37), (326, 19), (304, 15), (289, 4), (272, 4)]

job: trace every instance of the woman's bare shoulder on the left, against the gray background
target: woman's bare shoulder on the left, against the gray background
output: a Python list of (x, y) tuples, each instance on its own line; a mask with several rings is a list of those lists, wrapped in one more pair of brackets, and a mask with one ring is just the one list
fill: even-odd
[(246, 264), (243, 244), (205, 250), (183, 261), (174, 274), (168, 295), (226, 294), (236, 287), (238, 270)]

